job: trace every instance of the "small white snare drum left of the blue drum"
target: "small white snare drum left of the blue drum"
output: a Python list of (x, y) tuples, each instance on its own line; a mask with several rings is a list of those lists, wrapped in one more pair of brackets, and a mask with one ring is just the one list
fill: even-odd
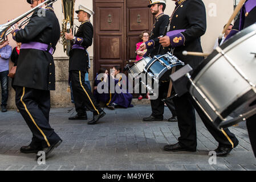
[(136, 79), (143, 72), (146, 65), (151, 60), (151, 57), (144, 57), (143, 59), (137, 61), (131, 68), (128, 68), (128, 75), (132, 79)]

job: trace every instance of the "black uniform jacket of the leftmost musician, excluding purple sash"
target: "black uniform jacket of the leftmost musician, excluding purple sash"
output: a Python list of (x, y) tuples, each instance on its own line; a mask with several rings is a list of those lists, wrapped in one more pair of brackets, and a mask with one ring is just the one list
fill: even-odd
[[(21, 43), (51, 44), (55, 48), (60, 38), (59, 21), (54, 11), (46, 10), (44, 16), (42, 13), (38, 14), (38, 10), (32, 14), (27, 26), (16, 33), (15, 40)], [(55, 65), (51, 53), (38, 49), (21, 49), (14, 85), (55, 90)]]

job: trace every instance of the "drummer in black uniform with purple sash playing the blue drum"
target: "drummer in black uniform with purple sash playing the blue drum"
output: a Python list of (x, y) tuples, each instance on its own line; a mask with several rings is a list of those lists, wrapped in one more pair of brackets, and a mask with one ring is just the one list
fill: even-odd
[[(201, 0), (172, 0), (176, 7), (169, 22), (169, 36), (160, 38), (163, 47), (174, 48), (173, 55), (191, 65), (195, 69), (203, 60), (198, 56), (184, 56), (182, 51), (202, 52), (200, 37), (206, 31), (206, 12), (205, 5)], [(184, 85), (185, 86), (185, 85)], [(166, 151), (196, 151), (196, 115), (200, 115), (206, 128), (219, 143), (216, 148), (217, 156), (226, 156), (238, 145), (238, 139), (228, 129), (218, 130), (212, 122), (202, 112), (196, 102), (193, 101), (189, 93), (181, 97), (173, 98), (174, 106), (178, 116), (178, 128), (180, 137), (178, 143), (164, 146)], [(193, 106), (194, 105), (194, 106)]]

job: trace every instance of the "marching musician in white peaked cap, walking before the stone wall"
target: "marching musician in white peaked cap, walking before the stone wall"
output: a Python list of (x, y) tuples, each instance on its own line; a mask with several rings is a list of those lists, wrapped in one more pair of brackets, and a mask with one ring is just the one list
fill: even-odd
[(94, 36), (94, 27), (91, 24), (90, 17), (94, 11), (80, 5), (79, 10), (75, 11), (78, 14), (80, 25), (78, 32), (73, 36), (72, 30), (66, 33), (67, 40), (73, 40), (74, 46), (70, 51), (70, 65), (68, 71), (72, 82), (72, 90), (77, 114), (68, 119), (87, 119), (86, 109), (94, 112), (94, 118), (89, 121), (88, 125), (94, 125), (100, 118), (105, 115), (105, 112), (97, 104), (94, 96), (88, 86), (84, 83), (84, 75), (88, 67), (88, 53), (86, 49), (92, 45)]

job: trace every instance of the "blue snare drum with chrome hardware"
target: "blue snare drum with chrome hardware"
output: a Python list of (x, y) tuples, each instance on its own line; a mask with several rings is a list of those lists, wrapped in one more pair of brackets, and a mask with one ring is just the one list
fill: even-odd
[(169, 52), (165, 55), (154, 56), (145, 67), (144, 72), (147, 74), (144, 75), (141, 82), (152, 93), (153, 82), (158, 84), (160, 81), (170, 80), (169, 76), (172, 73), (172, 68), (183, 65), (182, 61)]

